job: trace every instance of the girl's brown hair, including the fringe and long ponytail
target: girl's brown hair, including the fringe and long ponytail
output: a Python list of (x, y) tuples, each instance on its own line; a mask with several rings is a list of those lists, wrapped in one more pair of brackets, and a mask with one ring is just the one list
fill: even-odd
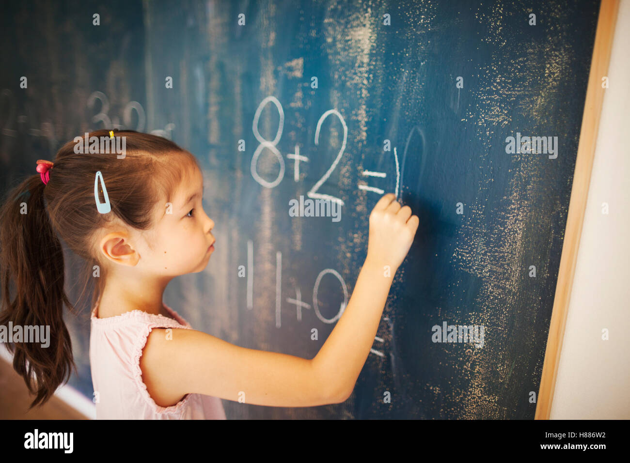
[[(85, 260), (83, 290), (91, 280), (93, 265), (100, 266), (91, 302), (94, 306), (105, 287), (107, 267), (96, 249), (95, 233), (115, 218), (135, 229), (151, 228), (157, 203), (163, 198), (171, 202), (185, 168), (198, 167), (190, 152), (163, 137), (134, 130), (114, 132), (125, 137), (122, 159), (113, 149), (88, 153), (87, 146), (85, 154), (77, 154), (76, 143), (67, 142), (57, 152), (47, 185), (33, 165), (34, 174), (8, 191), (0, 208), (0, 324), (50, 326), (47, 348), (40, 343), (7, 344), (14, 353), (13, 368), (24, 378), (28, 391), (37, 394), (29, 409), (46, 403), (67, 382), (72, 367), (76, 372), (63, 320), (64, 304), (71, 312), (74, 307), (64, 292), (64, 254), (57, 234)], [(97, 130), (89, 137), (109, 138), (110, 134)], [(107, 214), (96, 209), (97, 171), (103, 176), (112, 208)], [(100, 180), (98, 186), (101, 188)], [(99, 196), (104, 203), (103, 193)]]

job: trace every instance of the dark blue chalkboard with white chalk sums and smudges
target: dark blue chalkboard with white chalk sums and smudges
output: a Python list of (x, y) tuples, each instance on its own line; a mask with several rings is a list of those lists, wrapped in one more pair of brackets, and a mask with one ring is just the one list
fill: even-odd
[[(420, 217), (352, 396), (224, 401), (228, 418), (534, 418), (599, 2), (45, 5), (0, 20), (18, 44), (0, 58), (3, 186), (86, 130), (193, 152), (217, 242), (164, 295), (193, 328), (312, 358), (377, 200)], [(292, 217), (301, 197), (340, 220)], [(92, 397), (88, 310), (67, 323), (70, 384)], [(483, 328), (483, 346), (434, 342), (444, 324)]]

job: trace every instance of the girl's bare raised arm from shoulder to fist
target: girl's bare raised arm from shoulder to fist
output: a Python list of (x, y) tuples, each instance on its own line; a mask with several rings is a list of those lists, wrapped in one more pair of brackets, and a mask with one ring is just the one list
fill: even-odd
[(312, 360), (239, 347), (192, 329), (173, 329), (168, 340), (163, 328), (155, 328), (140, 357), (147, 391), (161, 406), (187, 393), (279, 407), (345, 401), (374, 343), (394, 274), (418, 222), (391, 193), (375, 205), (367, 257), (352, 297)]

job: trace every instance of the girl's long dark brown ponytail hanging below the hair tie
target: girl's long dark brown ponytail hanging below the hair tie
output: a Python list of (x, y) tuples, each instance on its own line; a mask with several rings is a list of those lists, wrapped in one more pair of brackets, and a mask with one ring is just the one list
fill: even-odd
[(50, 330), (46, 347), (26, 342), (32, 341), (26, 336), (6, 344), (14, 354), (14, 370), (36, 395), (29, 409), (48, 401), (69, 379), (72, 367), (76, 372), (63, 319), (64, 304), (73, 309), (64, 292), (64, 254), (46, 209), (44, 188), (40, 174), (32, 175), (0, 208), (0, 325), (7, 332), (9, 323), (21, 326), (25, 335), (26, 326)]

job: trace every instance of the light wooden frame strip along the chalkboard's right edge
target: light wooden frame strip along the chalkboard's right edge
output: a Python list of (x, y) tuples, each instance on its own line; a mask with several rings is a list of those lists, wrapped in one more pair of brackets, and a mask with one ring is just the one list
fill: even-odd
[(593, 56), (591, 59), (590, 73), (588, 75), (587, 96), (582, 115), (580, 129), (580, 141), (578, 142), (578, 154), (573, 173), (573, 186), (571, 186), (571, 198), (569, 201), (569, 213), (566, 218), (564, 242), (560, 256), (558, 270), (558, 283), (554, 297), (551, 323), (549, 323), (549, 336), (545, 360), (542, 366), (541, 386), (538, 392), (535, 420), (549, 420), (551, 403), (556, 388), (558, 364), (564, 338), (564, 327), (568, 314), (575, 275), (575, 263), (580, 248), (580, 236), (582, 224), (586, 212), (588, 199), (588, 186), (595, 157), (595, 144), (599, 130), (599, 120), (604, 103), (604, 91), (602, 77), (608, 75), (612, 40), (615, 35), (617, 11), (619, 0), (602, 0), (595, 32)]

